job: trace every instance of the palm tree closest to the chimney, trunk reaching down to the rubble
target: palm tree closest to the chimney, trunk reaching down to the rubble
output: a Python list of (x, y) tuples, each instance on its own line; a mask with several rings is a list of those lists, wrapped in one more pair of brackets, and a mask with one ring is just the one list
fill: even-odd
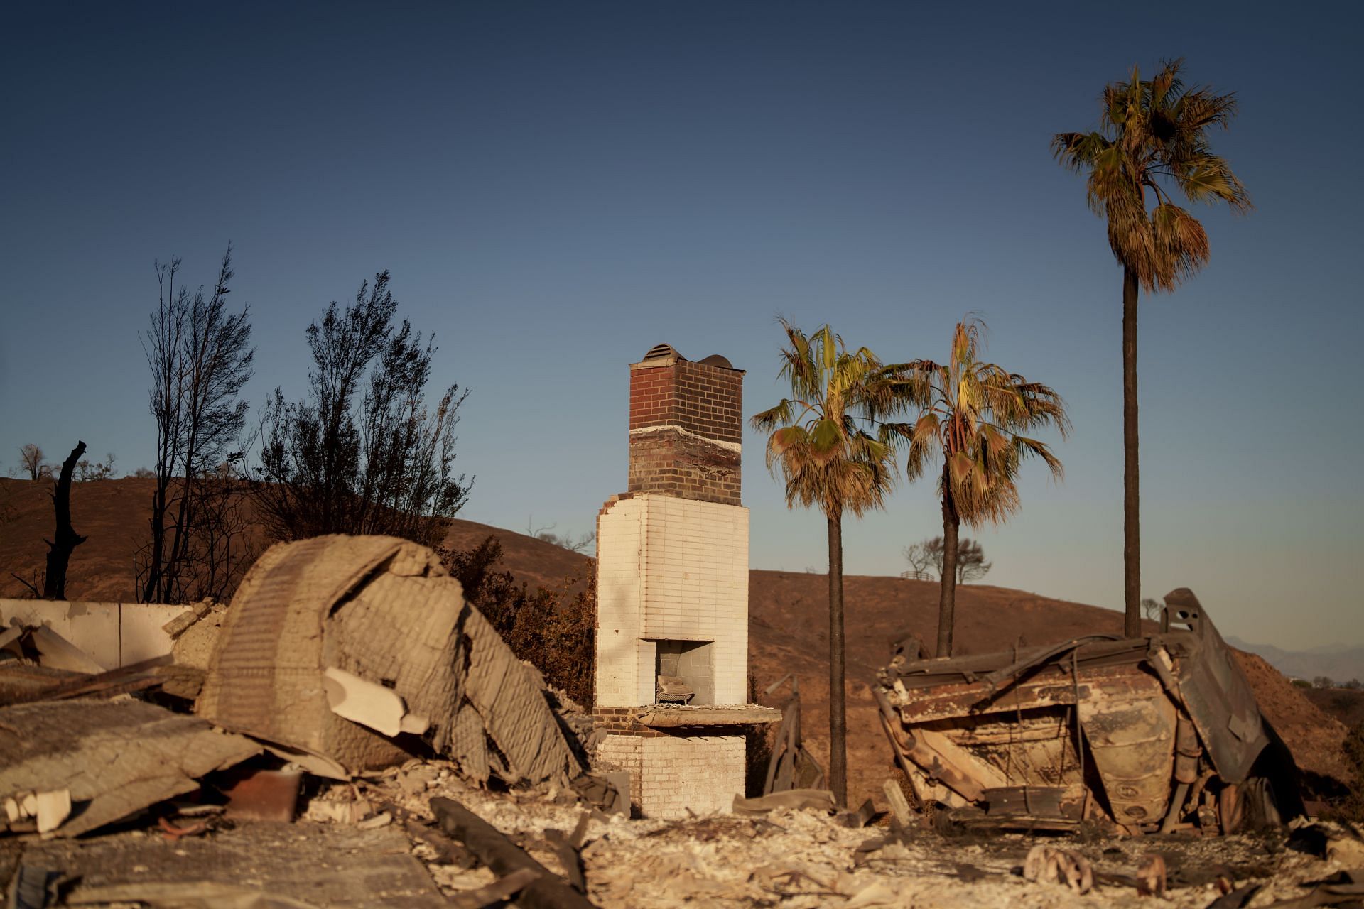
[(866, 417), (868, 382), (881, 363), (866, 348), (848, 352), (829, 326), (806, 337), (782, 319), (790, 346), (780, 376), (791, 397), (753, 417), (771, 432), (768, 470), (780, 469), (786, 504), (816, 506), (829, 526), (829, 781), (847, 804), (847, 720), (843, 665), (843, 512), (878, 508), (895, 470), (891, 446), (857, 425)]

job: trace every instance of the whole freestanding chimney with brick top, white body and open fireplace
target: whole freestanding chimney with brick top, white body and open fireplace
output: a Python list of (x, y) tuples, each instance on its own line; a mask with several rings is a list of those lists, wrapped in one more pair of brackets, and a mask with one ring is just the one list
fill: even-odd
[(629, 489), (597, 517), (597, 756), (651, 816), (727, 811), (745, 728), (779, 718), (746, 705), (742, 380), (667, 345), (632, 364)]

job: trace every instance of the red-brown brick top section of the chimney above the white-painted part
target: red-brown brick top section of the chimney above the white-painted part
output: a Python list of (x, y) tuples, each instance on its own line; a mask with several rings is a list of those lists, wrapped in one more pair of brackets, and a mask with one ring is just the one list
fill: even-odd
[(728, 360), (660, 343), (630, 364), (629, 492), (737, 506), (742, 439), (743, 371)]

